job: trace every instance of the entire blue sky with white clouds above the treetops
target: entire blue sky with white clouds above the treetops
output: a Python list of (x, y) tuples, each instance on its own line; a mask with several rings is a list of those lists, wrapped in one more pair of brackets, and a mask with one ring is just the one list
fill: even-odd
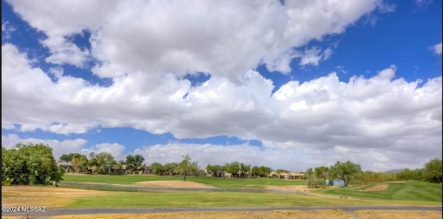
[(2, 1), (1, 144), (305, 171), (442, 157), (442, 1)]

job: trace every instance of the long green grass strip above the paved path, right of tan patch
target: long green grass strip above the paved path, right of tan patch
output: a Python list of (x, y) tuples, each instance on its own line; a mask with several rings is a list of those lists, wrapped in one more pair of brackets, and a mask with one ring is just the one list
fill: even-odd
[(322, 198), (309, 195), (271, 193), (211, 192), (211, 193), (127, 193), (109, 192), (75, 198), (66, 207), (286, 207), (286, 206), (333, 206), (377, 205), (385, 202)]

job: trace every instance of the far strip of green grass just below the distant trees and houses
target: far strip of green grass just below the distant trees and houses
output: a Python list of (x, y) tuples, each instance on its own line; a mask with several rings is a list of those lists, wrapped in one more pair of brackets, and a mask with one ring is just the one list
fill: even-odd
[[(137, 182), (159, 181), (159, 180), (183, 180), (183, 176), (161, 176), (161, 175), (75, 175), (63, 176), (65, 182), (96, 182), (107, 184), (135, 184)], [(293, 179), (271, 179), (267, 177), (257, 178), (221, 178), (221, 177), (186, 177), (186, 181), (199, 182), (217, 188), (241, 188), (245, 186), (289, 186), (305, 185), (305, 180)]]

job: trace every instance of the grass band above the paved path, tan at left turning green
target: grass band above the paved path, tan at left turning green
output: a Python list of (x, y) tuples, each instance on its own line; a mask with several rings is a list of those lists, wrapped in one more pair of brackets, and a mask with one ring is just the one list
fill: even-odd
[(289, 207), (377, 205), (377, 200), (323, 198), (311, 195), (247, 192), (135, 193), (88, 191), (45, 186), (2, 186), (3, 206), (69, 208), (115, 207)]

